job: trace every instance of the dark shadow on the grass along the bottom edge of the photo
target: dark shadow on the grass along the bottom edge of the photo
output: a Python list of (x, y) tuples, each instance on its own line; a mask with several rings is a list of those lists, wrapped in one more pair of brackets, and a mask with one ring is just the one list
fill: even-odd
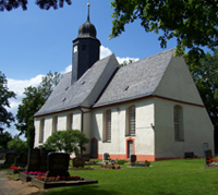
[(81, 186), (71, 186), (71, 187), (59, 187), (52, 188), (49, 192), (44, 193), (44, 195), (72, 195), (72, 194), (88, 194), (88, 195), (111, 195), (120, 194), (113, 190), (102, 190), (98, 185), (81, 185)]

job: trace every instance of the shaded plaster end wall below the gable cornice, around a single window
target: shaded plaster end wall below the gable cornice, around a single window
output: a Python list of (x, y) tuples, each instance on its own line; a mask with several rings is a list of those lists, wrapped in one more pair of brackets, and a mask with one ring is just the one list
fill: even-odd
[[(183, 109), (184, 142), (174, 141), (173, 107)], [(214, 149), (214, 129), (205, 108), (155, 98), (156, 158), (184, 157), (185, 151), (204, 156), (203, 143)]]

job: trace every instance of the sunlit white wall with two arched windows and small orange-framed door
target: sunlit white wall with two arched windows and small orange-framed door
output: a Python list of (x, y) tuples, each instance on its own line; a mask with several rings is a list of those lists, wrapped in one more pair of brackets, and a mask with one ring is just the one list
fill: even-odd
[[(126, 109), (134, 105), (136, 114), (135, 136), (128, 136)], [(111, 143), (104, 142), (104, 113), (111, 110)], [(133, 141), (133, 154), (137, 160), (154, 160), (154, 105), (152, 99), (94, 109), (92, 136), (98, 141), (98, 157), (109, 153), (112, 159), (128, 159), (128, 141)]]

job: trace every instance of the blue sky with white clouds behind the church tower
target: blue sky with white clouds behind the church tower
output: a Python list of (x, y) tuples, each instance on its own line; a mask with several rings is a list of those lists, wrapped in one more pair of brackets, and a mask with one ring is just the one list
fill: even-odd
[[(146, 33), (140, 21), (125, 26), (119, 37), (108, 39), (112, 27), (111, 0), (72, 0), (72, 4), (49, 11), (40, 10), (28, 0), (27, 11), (21, 8), (0, 12), (0, 71), (9, 81), (9, 88), (16, 93), (11, 99), (14, 114), (24, 88), (38, 85), (49, 71), (69, 71), (72, 64), (72, 40), (77, 37), (78, 27), (86, 22), (87, 3), (90, 3), (90, 22), (96, 26), (101, 42), (101, 58), (114, 53), (121, 59), (143, 59), (164, 51), (158, 36)], [(175, 47), (168, 42), (165, 50)], [(9, 130), (15, 134), (14, 126)]]

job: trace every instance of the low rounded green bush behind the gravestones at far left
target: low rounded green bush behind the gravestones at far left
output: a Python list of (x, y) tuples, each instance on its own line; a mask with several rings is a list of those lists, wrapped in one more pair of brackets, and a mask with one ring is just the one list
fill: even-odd
[(10, 142), (8, 142), (8, 148), (13, 149), (16, 153), (21, 153), (21, 151), (27, 150), (28, 146), (26, 142), (20, 138), (13, 138)]

